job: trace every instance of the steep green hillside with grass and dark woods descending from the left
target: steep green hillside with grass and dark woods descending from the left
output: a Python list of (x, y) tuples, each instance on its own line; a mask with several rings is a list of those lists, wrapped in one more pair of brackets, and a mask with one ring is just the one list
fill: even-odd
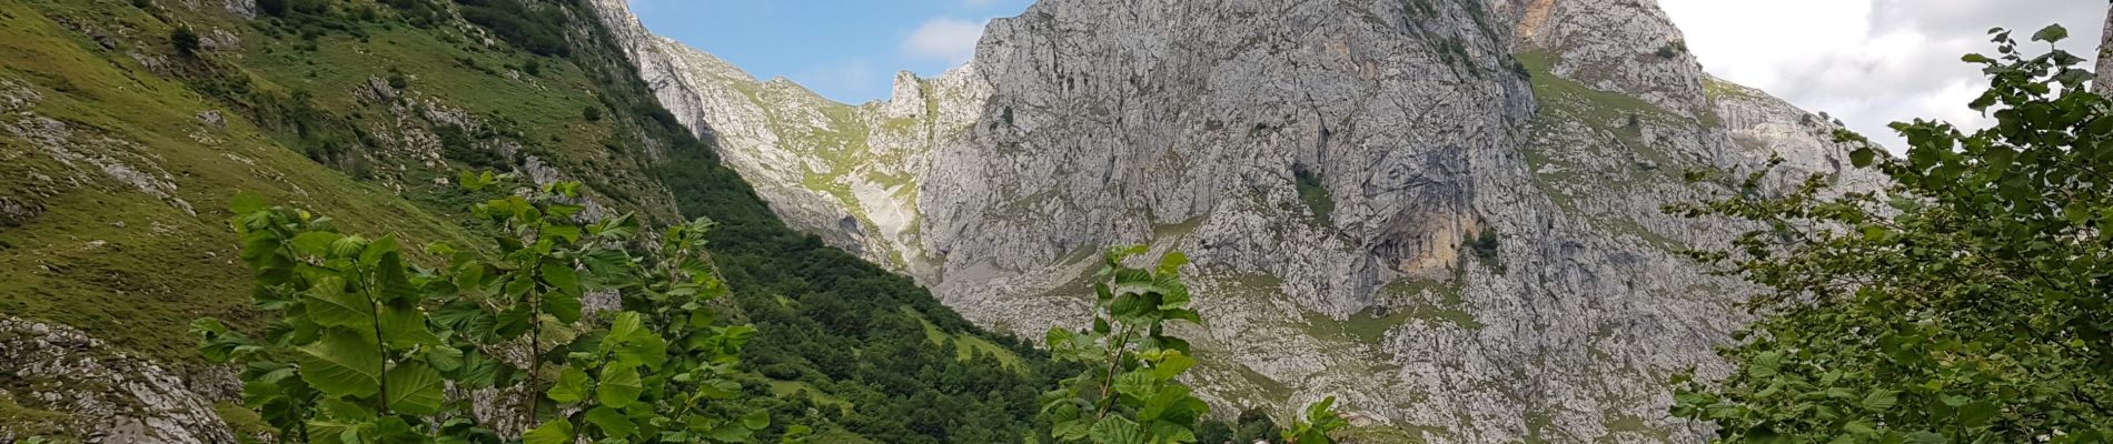
[(587, 217), (721, 221), (716, 261), (761, 328), (748, 385), (786, 419), (769, 433), (1033, 429), (1042, 356), (780, 223), (600, 23), (558, 0), (0, 4), (0, 442), (260, 431), (235, 368), (199, 360), (188, 332), (205, 316), (262, 322), (228, 196), (478, 246), (478, 196), (450, 183), (465, 168), (583, 181)]

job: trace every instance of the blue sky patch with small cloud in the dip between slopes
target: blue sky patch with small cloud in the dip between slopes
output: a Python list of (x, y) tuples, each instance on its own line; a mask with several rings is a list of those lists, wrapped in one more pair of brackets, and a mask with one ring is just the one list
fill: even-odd
[(655, 34), (792, 78), (828, 99), (885, 99), (900, 69), (934, 76), (974, 55), (983, 25), (1031, 0), (630, 0)]

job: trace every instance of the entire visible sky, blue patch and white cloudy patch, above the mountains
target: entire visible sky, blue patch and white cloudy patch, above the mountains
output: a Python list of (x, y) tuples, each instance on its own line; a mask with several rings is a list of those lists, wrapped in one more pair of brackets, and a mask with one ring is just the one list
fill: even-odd
[[(632, 0), (647, 27), (824, 97), (885, 99), (896, 69), (968, 61), (991, 17), (1031, 0)], [(2024, 40), (2062, 23), (2062, 48), (2096, 55), (2107, 0), (1659, 0), (1709, 74), (1769, 90), (1900, 149), (1887, 122), (1984, 122), (1986, 86), (1959, 61), (1993, 53), (1988, 27)]]

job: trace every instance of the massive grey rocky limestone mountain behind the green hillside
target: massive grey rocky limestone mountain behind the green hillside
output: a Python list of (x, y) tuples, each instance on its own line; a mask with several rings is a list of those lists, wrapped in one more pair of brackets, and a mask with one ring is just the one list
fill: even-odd
[(1373, 442), (1699, 440), (1665, 385), (1754, 288), (1678, 253), (1745, 225), (1659, 208), (1775, 156), (1878, 183), (1650, 0), (1042, 0), (862, 105), (596, 8), (788, 225), (1023, 337), (1086, 320), (1097, 250), (1183, 250), (1204, 398)]

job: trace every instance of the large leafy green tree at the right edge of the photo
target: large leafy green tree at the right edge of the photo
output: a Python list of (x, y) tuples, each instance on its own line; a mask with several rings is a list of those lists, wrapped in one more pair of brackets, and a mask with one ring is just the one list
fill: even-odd
[(1720, 442), (2105, 442), (2113, 440), (2113, 114), (2081, 61), (2050, 44), (1967, 55), (1990, 88), (1971, 107), (1995, 126), (1895, 122), (1906, 158), (1866, 139), (1851, 162), (1885, 191), (1826, 198), (1826, 177), (1762, 196), (1676, 204), (1688, 217), (1762, 223), (1728, 250), (1693, 253), (1771, 286), (1739, 368), (1686, 381), (1673, 415), (1714, 421)]

